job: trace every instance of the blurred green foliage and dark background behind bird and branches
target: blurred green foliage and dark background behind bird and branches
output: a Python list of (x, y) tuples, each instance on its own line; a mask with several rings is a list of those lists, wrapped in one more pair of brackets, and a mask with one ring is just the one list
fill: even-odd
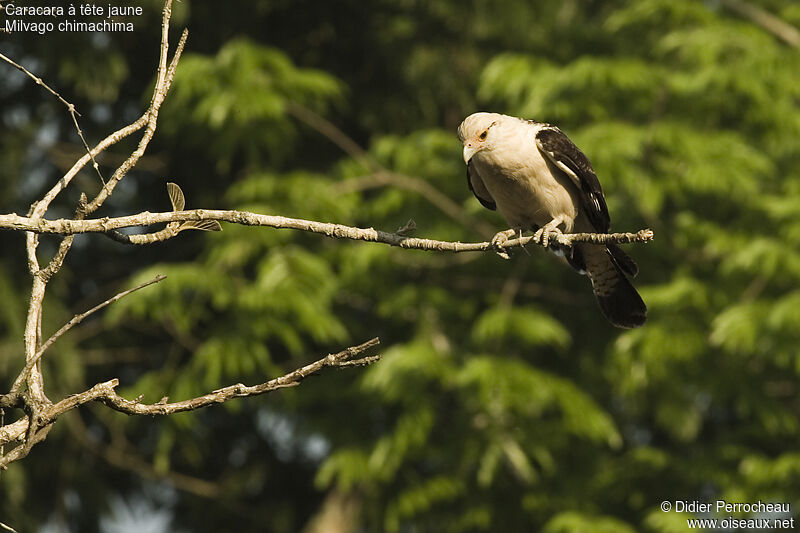
[[(800, 26), (792, 0), (749, 1)], [(655, 231), (626, 247), (649, 321), (613, 329), (541, 249), (503, 261), (232, 225), (144, 248), (81, 236), (45, 334), (169, 277), (48, 352), (51, 398), (118, 376), (130, 398), (184, 399), (376, 335), (383, 360), (191, 414), (72, 412), (0, 477), (0, 521), (667, 533), (687, 515), (662, 500), (800, 504), (800, 54), (738, 4), (176, 3), (187, 51), (101, 215), (167, 210), (175, 181), (190, 208), (484, 240), (504, 222), (468, 191), (455, 128), (479, 110), (536, 118), (589, 155), (612, 229)], [(149, 99), (161, 3), (137, 5), (134, 33), (2, 37), (77, 105), (90, 144)], [(0, 72), (0, 203), (24, 213), (83, 149), (55, 99)], [(99, 187), (90, 170), (75, 184), (49, 216)], [(22, 235), (0, 239), (7, 386), (29, 280)]]

